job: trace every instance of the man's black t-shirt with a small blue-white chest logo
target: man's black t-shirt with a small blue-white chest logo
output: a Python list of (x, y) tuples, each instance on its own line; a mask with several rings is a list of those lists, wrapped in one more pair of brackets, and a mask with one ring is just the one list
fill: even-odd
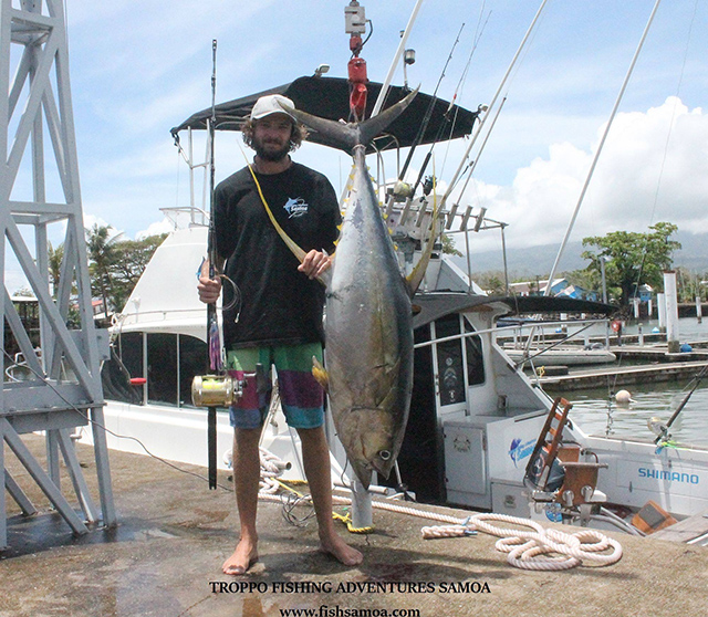
[[(296, 163), (281, 174), (257, 177), (285, 233), (305, 252), (332, 253), (341, 215), (330, 181)], [(324, 287), (298, 271), (299, 262), (268, 218), (248, 168), (217, 186), (215, 226), (217, 251), (241, 296), (240, 306), (223, 312), (227, 348), (322, 341)], [(228, 306), (233, 292), (228, 282), (223, 290)]]

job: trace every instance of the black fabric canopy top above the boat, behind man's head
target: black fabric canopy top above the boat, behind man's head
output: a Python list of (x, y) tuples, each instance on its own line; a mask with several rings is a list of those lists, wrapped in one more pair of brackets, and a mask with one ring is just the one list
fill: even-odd
[[(366, 102), (366, 117), (371, 115), (382, 84), (368, 82), (368, 96)], [(410, 92), (402, 86), (391, 86), (384, 108), (394, 105)], [(243, 98), (229, 101), (216, 106), (217, 130), (240, 130), (241, 125), (251, 113), (251, 107), (256, 101), (266, 94), (282, 94), (292, 98), (298, 109), (308, 114), (327, 119), (345, 122), (350, 119), (350, 84), (342, 77), (300, 77), (285, 85), (266, 90)], [(377, 149), (389, 146), (410, 146), (417, 135), (419, 127), (424, 124), (424, 118), (428, 112), (430, 102), (434, 100), (429, 94), (418, 93), (405, 113), (394, 121), (388, 127), (386, 135), (377, 139)], [(458, 105), (452, 105), (440, 98), (435, 100), (429, 124), (419, 140), (419, 144), (431, 144), (434, 142), (446, 142), (469, 135), (472, 130), (478, 112), (470, 112)], [(446, 114), (446, 112), (448, 112)], [(176, 138), (180, 130), (185, 128), (206, 129), (207, 121), (211, 117), (211, 107), (198, 112), (171, 129)], [(312, 133), (309, 142), (319, 144), (317, 134)]]

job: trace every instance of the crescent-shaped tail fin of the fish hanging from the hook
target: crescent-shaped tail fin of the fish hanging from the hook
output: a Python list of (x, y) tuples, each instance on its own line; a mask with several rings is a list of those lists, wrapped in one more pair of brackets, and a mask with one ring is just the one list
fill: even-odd
[(374, 137), (383, 133), (410, 104), (416, 94), (418, 94), (418, 90), (419, 88), (414, 90), (405, 98), (392, 105), (377, 116), (358, 123), (342, 123), (325, 119), (300, 109), (289, 109), (288, 113), (295, 116), (295, 118), (308, 128), (316, 132), (321, 142), (325, 145), (351, 154), (356, 146), (366, 146)]

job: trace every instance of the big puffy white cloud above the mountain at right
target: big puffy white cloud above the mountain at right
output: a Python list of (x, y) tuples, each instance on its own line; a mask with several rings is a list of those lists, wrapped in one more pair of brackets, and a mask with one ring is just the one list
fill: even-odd
[[(510, 223), (514, 247), (560, 243), (585, 182), (593, 150), (552, 144), (497, 190), (477, 182), (472, 203)], [(708, 116), (676, 97), (647, 112), (617, 115), (571, 237), (646, 231), (658, 221), (708, 231)], [(478, 247), (479, 249), (479, 247)]]

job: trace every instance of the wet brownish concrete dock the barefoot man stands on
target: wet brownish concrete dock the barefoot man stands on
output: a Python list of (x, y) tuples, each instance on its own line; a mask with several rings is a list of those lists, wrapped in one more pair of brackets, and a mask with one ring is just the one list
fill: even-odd
[[(34, 452), (43, 450), (42, 437), (24, 440)], [(77, 454), (91, 483), (93, 452), (79, 445)], [(230, 577), (220, 565), (233, 548), (238, 521), (226, 473), (219, 474), (223, 488), (209, 491), (206, 481), (155, 459), (112, 451), (119, 525), (74, 537), (11, 452), (6, 464), (40, 513), (23, 517), (8, 495), (0, 617), (708, 614), (706, 547), (610, 533), (624, 548), (615, 565), (529, 572), (508, 565), (490, 535), (426, 541), (420, 527), (435, 522), (376, 510), (373, 534), (348, 534), (342, 526), (365, 556), (351, 568), (317, 551), (313, 522), (292, 526), (280, 504), (262, 503), (261, 560), (247, 576)], [(183, 467), (206, 475), (201, 468)], [(469, 514), (418, 508), (460, 519)], [(367, 590), (368, 583), (402, 585), (379, 593)]]

